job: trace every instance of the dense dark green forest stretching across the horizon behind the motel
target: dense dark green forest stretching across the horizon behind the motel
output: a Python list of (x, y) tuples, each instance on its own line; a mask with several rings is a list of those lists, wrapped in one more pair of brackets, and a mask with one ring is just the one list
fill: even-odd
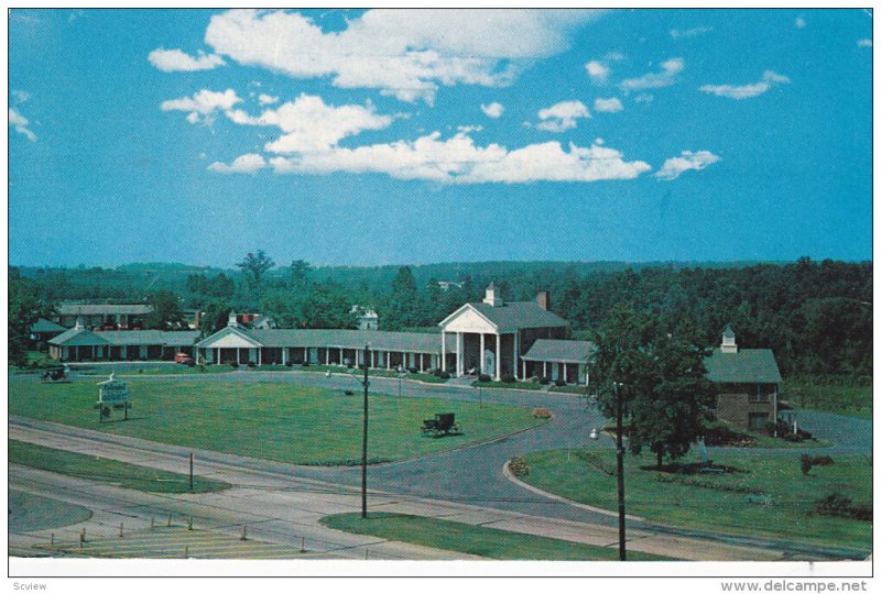
[[(452, 282), (448, 289), (438, 282)], [(872, 373), (872, 263), (803, 257), (794, 263), (485, 262), (420, 266), (276, 265), (262, 251), (229, 270), (184, 264), (115, 268), (10, 267), (10, 353), (35, 316), (62, 300), (148, 300), (148, 326), (166, 328), (183, 309), (206, 312), (204, 332), (230, 309), (272, 316), (280, 327), (346, 328), (354, 305), (376, 309), (380, 328), (437, 331), (437, 322), (494, 282), (508, 300), (551, 292), (551, 309), (590, 339), (620, 302), (671, 333), (716, 345), (730, 323), (743, 348), (773, 349), (787, 374)]]

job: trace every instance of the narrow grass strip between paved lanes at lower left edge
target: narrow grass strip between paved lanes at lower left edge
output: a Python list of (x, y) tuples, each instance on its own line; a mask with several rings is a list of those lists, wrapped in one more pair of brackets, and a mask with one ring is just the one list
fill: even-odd
[[(222, 481), (194, 476), (191, 492), (189, 475), (187, 474), (55, 450), (13, 439), (9, 440), (9, 462), (151, 493), (208, 493), (222, 491), (230, 486)], [(181, 465), (184, 464), (185, 462), (182, 461)]]

